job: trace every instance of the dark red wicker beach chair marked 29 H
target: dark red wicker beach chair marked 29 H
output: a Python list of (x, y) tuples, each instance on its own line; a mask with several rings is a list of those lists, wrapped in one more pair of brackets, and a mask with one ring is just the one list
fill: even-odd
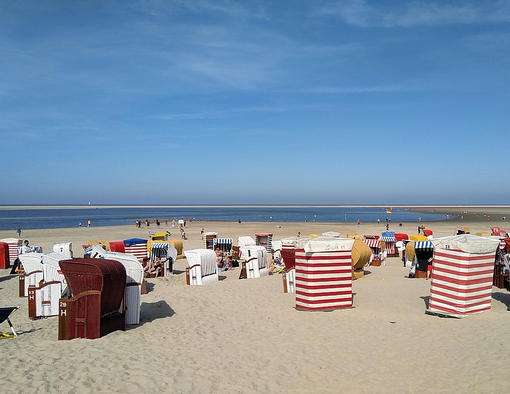
[(73, 259), (60, 262), (70, 297), (60, 299), (59, 340), (96, 339), (124, 330), (119, 309), (124, 299), (126, 271), (115, 260)]

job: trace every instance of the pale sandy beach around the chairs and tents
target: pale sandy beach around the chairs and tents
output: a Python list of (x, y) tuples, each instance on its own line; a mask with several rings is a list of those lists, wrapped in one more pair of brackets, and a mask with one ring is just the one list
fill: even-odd
[[(433, 208), (430, 208), (433, 209)], [(488, 208), (489, 209), (489, 208)], [(471, 213), (471, 233), (501, 225)], [(467, 209), (466, 209), (467, 210)], [(481, 213), (483, 215), (483, 212)], [(424, 223), (435, 237), (452, 235), (458, 221)], [(200, 230), (220, 237), (274, 233), (274, 238), (325, 231), (380, 234), (384, 224), (195, 222), (184, 249), (201, 247)], [(165, 229), (163, 227), (163, 229)], [(170, 232), (179, 234), (179, 230)], [(390, 230), (416, 234), (417, 223)], [(13, 231), (0, 231), (0, 238)], [(147, 237), (135, 226), (23, 230), (45, 252), (72, 242), (75, 256), (88, 239)], [(220, 282), (187, 286), (186, 260), (174, 275), (147, 280), (140, 325), (96, 340), (57, 341), (58, 318), (31, 321), (27, 299), (18, 298), (17, 277), (0, 270), (3, 306), (20, 334), (0, 342), (4, 392), (293, 392), (293, 393), (506, 393), (510, 389), (506, 330), (510, 293), (493, 288), (492, 309), (464, 319), (424, 314), (429, 281), (405, 279), (399, 258), (368, 267), (353, 282), (355, 308), (302, 312), (294, 294), (272, 275), (238, 280), (239, 268)], [(2, 331), (8, 326), (2, 325)]]

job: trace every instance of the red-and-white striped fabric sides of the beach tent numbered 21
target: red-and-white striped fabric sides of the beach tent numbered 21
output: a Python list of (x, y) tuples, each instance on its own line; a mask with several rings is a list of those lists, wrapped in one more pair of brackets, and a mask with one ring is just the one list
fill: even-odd
[(495, 257), (435, 249), (429, 310), (466, 315), (491, 309)]

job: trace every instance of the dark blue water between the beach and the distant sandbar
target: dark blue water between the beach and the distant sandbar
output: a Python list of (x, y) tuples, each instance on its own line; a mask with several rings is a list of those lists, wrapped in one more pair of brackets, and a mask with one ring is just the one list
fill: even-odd
[(420, 213), (416, 211), (394, 209), (387, 213), (386, 209), (360, 207), (193, 207), (179, 208), (69, 208), (69, 209), (0, 209), (0, 230), (21, 229), (57, 229), (87, 226), (134, 226), (136, 219), (160, 219), (164, 224), (173, 218), (181, 217), (195, 220), (221, 221), (275, 221), (275, 222), (304, 222), (321, 223), (354, 223), (358, 219), (362, 222), (375, 222), (379, 218), (386, 223), (401, 223), (404, 221), (451, 220), (453, 217), (443, 213)]

